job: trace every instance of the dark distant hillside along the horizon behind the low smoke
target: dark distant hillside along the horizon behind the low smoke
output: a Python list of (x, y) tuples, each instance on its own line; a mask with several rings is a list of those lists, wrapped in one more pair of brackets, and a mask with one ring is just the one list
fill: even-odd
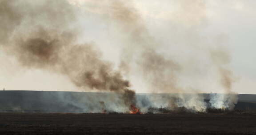
[[(157, 94), (168, 95), (175, 94)], [(206, 101), (209, 94), (202, 94)], [(147, 106), (148, 96), (137, 94), (140, 105)], [(107, 101), (107, 102), (106, 102)], [(33, 112), (99, 112), (104, 109), (121, 110), (114, 93), (67, 92), (67, 91), (0, 91), (0, 111), (33, 111)], [(256, 95), (241, 94), (235, 109), (256, 110)]]

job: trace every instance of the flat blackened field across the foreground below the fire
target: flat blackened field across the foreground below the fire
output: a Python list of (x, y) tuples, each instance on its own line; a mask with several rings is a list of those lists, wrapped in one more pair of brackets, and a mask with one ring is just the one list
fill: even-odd
[(256, 135), (256, 115), (0, 113), (0, 135)]

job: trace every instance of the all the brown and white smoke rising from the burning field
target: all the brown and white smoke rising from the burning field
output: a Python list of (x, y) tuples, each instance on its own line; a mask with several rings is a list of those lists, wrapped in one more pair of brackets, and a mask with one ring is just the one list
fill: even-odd
[[(95, 4), (98, 2), (92, 1)], [(120, 35), (126, 37), (121, 45), (124, 50), (120, 59), (120, 69), (114, 70), (113, 64), (103, 59), (99, 48), (96, 47), (97, 44), (78, 43), (79, 38), (83, 38), (79, 24), (82, 12), (79, 7), (66, 0), (0, 0), (0, 18), (3, 20), (0, 23), (1, 49), (10, 57), (14, 57), (21, 68), (41, 69), (66, 75), (77, 87), (84, 90), (115, 92), (117, 96), (114, 98), (120, 99), (118, 102), (108, 100), (92, 103), (98, 108), (108, 108), (105, 103), (113, 102), (126, 108), (124, 112), (129, 112), (132, 105), (141, 104), (135, 97), (135, 91), (130, 88), (130, 81), (125, 79), (128, 77), (124, 77), (134, 74), (133, 71), (141, 71), (139, 75), (147, 82), (149, 92), (178, 93), (175, 96), (177, 100), (168, 96), (151, 96), (143, 101), (145, 105), (141, 106), (142, 110), (164, 104), (164, 107), (168, 108), (186, 107), (193, 111), (205, 111), (207, 105), (204, 98), (197, 94), (202, 90), (196, 85), (192, 88), (181, 86), (188, 72), (202, 69), (206, 73), (214, 72), (215, 75), (210, 77), (227, 93), (224, 98), (212, 96), (212, 107), (224, 106), (232, 109), (236, 103), (236, 94), (230, 94), (232, 72), (226, 67), (229, 60), (223, 61), (223, 57), (228, 54), (221, 49), (204, 47), (204, 44), (208, 43), (200, 38), (199, 30), (203, 25), (200, 22), (205, 19), (204, 1), (194, 0), (192, 5), (188, 6), (188, 2), (182, 0), (178, 4), (181, 7), (180, 18), (184, 17), (193, 22), (189, 28), (183, 26), (182, 23), (186, 22), (184, 20), (180, 20), (181, 25), (173, 24), (182, 28), (181, 33), (188, 33), (191, 36), (177, 35), (178, 39), (188, 39), (188, 42), (178, 41), (185, 49), (200, 54), (199, 57), (206, 57), (212, 70), (198, 64), (198, 57), (188, 55), (192, 59), (192, 66), (180, 60), (180, 56), (173, 54), (175, 57), (172, 57), (158, 51), (158, 48), (165, 46), (158, 43), (150, 34), (134, 5), (123, 0), (108, 1), (100, 9), (107, 12), (102, 14), (102, 17), (110, 16), (105, 21), (116, 24), (116, 27), (120, 28)], [(171, 47), (175, 48), (175, 45)], [(197, 50), (201, 47), (207, 53)], [(183, 93), (193, 94), (184, 96)], [(88, 111), (90, 110), (93, 109), (88, 108)]]

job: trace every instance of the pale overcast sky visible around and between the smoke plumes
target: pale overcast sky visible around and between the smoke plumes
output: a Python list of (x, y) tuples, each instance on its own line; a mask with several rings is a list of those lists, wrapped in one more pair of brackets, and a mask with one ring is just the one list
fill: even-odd
[[(117, 24), (108, 19), (108, 13), (100, 8), (108, 4), (108, 0), (102, 3), (95, 1), (97, 0), (70, 0), (71, 4), (82, 9), (78, 23), (82, 26), (83, 36), (78, 42), (96, 44), (103, 58), (118, 68), (123, 49), (120, 44), (123, 44), (125, 37), (120, 35), (120, 29), (116, 28)], [(154, 40), (163, 44), (160, 51), (164, 50), (164, 53), (184, 60), (195, 56), (197, 63), (200, 63), (201, 59), (204, 61), (203, 58), (197, 58), (196, 54), (193, 54), (195, 51), (189, 51), (190, 47), (188, 51), (184, 51), (188, 44), (204, 44), (194, 40), (200, 36), (207, 40), (204, 42), (210, 42), (209, 46), (220, 46), (230, 56), (227, 66), (234, 75), (232, 91), (256, 94), (255, 0), (130, 0), (128, 3), (138, 12)], [(187, 4), (192, 6), (184, 6)], [(187, 9), (191, 12), (183, 14), (183, 10)], [(196, 32), (197, 36), (192, 35), (192, 39), (189, 39), (189, 34), (193, 32)], [(65, 75), (19, 67), (16, 60), (3, 50), (0, 51), (0, 65), (0, 88), (85, 91), (76, 87)], [(181, 75), (183, 77), (180, 80), (183, 83), (180, 85), (187, 85), (193, 79), (194, 74), (186, 75)], [(128, 79), (131, 80), (136, 92), (147, 92), (147, 84), (142, 78), (130, 75)], [(198, 83), (195, 85), (204, 89), (202, 92), (218, 92), (215, 91), (216, 87), (212, 86), (214, 81), (211, 78), (205, 79), (207, 81), (204, 81), (204, 76), (195, 79), (197, 81), (193, 81), (193, 85)]]

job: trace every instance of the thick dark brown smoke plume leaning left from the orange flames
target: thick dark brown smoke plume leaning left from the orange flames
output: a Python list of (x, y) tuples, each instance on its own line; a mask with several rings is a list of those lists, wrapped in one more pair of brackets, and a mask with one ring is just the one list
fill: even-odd
[[(120, 94), (136, 105), (135, 91), (93, 44), (77, 44), (79, 10), (66, 0), (0, 0), (1, 45), (22, 67), (67, 75), (78, 87)], [(100, 103), (102, 104), (102, 103)]]

